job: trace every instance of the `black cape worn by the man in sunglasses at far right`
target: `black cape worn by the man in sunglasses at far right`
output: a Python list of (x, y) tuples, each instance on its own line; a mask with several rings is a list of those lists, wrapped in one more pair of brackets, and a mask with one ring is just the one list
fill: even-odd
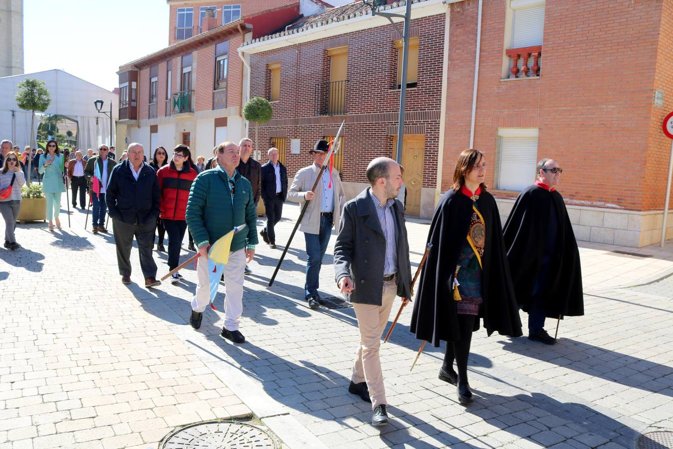
[(505, 223), (505, 245), (514, 291), (528, 312), (549, 229), (551, 207), (556, 208), (557, 257), (552, 262), (545, 289), (548, 318), (584, 314), (582, 274), (575, 233), (563, 197), (536, 185), (520, 193)]

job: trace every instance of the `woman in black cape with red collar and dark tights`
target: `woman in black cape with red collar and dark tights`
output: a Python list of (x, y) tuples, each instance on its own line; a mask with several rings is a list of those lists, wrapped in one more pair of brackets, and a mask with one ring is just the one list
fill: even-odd
[[(484, 154), (466, 149), (456, 162), (453, 186), (441, 198), (428, 241), (410, 331), (446, 353), (439, 378), (458, 386), (460, 403), (472, 402), (467, 362), (472, 332), (483, 318), (488, 335), (520, 337), (521, 320), (509, 275), (500, 213), (484, 183)], [(458, 373), (454, 371), (456, 360)]]

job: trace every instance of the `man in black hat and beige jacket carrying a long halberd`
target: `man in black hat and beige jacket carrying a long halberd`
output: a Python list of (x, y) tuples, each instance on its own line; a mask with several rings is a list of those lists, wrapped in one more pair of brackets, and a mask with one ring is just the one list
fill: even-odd
[(309, 153), (314, 163), (295, 173), (292, 185), (287, 191), (287, 199), (304, 206), (309, 201), (299, 230), (304, 232), (306, 240), (306, 284), (304, 295), (310, 308), (318, 308), (322, 298), (318, 295), (320, 267), (327, 245), (332, 235), (332, 226), (339, 229), (341, 209), (345, 203), (345, 192), (341, 185), (339, 172), (335, 169), (322, 173), (322, 182), (318, 182), (316, 192), (311, 191), (318, 178), (320, 168), (325, 162), (329, 143), (319, 140)]

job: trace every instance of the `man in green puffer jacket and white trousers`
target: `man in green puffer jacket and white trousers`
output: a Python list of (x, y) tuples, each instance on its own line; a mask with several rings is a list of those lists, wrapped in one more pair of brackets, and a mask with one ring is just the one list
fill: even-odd
[[(225, 291), (224, 326), (221, 336), (234, 343), (246, 341), (238, 330), (243, 313), (243, 277), (246, 263), (254, 257), (257, 244), (257, 211), (250, 182), (241, 176), (236, 167), (241, 159), (240, 148), (233, 142), (222, 142), (217, 147), (217, 168), (201, 172), (189, 192), (186, 221), (199, 248), (197, 259), (197, 291), (192, 299), (189, 323), (194, 329), (201, 327), (203, 311), (210, 303), (210, 271), (208, 248), (221, 236), (246, 224), (234, 234), (229, 262), (224, 268)], [(212, 267), (211, 267), (212, 269)]]

